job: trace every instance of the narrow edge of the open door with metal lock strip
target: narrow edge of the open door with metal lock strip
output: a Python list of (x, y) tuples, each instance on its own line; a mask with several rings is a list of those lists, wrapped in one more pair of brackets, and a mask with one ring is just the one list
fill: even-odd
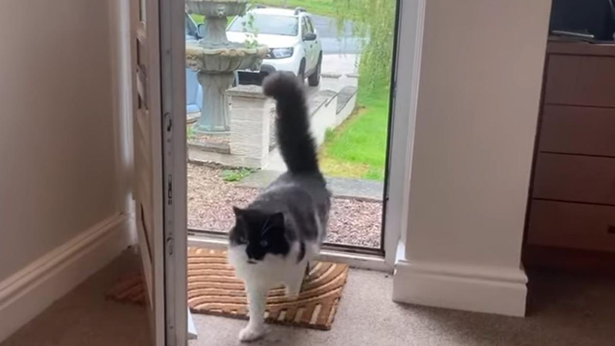
[(185, 3), (159, 1), (167, 346), (188, 342)]

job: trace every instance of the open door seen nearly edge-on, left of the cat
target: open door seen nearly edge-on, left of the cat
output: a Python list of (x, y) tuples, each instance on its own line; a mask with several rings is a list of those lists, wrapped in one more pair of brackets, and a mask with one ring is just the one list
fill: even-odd
[(186, 116), (185, 104), (177, 102), (185, 100), (185, 33), (170, 25), (174, 17), (183, 20), (184, 6), (132, 0), (130, 8), (133, 192), (152, 340), (156, 346), (186, 345), (186, 187), (176, 182), (186, 174), (186, 128), (173, 126)]

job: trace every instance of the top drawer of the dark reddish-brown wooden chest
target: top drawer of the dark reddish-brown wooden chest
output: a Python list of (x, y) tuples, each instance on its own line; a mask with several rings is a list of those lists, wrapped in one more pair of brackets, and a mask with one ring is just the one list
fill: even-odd
[(615, 57), (550, 54), (546, 103), (615, 107)]

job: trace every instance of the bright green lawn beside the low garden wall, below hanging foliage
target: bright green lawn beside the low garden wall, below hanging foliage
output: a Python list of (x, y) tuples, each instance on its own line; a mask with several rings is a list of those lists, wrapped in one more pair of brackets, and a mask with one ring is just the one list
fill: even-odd
[(355, 113), (328, 132), (319, 151), (320, 167), (333, 177), (383, 180), (389, 93), (359, 94), (357, 104)]

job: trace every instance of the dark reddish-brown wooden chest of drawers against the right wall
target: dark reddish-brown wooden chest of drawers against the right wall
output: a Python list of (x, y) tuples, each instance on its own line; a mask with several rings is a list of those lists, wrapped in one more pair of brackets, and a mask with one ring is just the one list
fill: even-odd
[(549, 42), (523, 261), (615, 270), (615, 46)]

